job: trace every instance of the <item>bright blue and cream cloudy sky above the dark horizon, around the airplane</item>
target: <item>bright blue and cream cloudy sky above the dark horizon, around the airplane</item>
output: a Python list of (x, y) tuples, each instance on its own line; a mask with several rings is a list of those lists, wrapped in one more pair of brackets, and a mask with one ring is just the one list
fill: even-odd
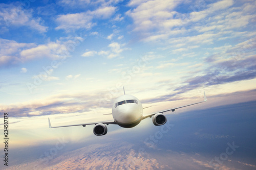
[[(152, 106), (146, 113), (202, 101), (203, 91), (206, 103), (180, 112), (254, 101), (255, 8), (249, 0), (1, 3), (0, 113), (12, 147), (55, 143), (63, 130), (49, 132), (48, 117), (53, 126), (111, 119), (102, 114), (123, 86)], [(64, 136), (84, 137), (73, 130)]]

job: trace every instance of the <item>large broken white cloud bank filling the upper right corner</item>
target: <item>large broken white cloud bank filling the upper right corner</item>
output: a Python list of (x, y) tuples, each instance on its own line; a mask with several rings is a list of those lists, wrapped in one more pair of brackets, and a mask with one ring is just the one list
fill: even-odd
[(239, 7), (236, 4), (238, 2), (232, 0), (208, 5), (204, 1), (184, 3), (183, 8), (188, 12), (180, 13), (178, 5), (182, 2), (131, 1), (129, 6), (132, 9), (126, 15), (133, 19), (133, 31), (139, 34), (140, 40), (163, 40), (173, 44), (180, 38), (181, 42), (189, 39), (188, 42), (204, 44), (212, 43), (214, 39), (223, 38), (224, 35), (226, 38), (236, 37), (242, 28), (252, 26), (255, 20), (253, 10), (250, 10), (251, 7), (256, 7), (255, 2), (247, 2)]

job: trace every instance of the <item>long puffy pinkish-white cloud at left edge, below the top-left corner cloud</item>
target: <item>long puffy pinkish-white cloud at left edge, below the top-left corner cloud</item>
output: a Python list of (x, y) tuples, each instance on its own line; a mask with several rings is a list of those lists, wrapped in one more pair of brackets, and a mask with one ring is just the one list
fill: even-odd
[(0, 68), (18, 65), (38, 58), (65, 59), (78, 45), (77, 41), (83, 41), (83, 38), (69, 37), (65, 41), (49, 41), (46, 44), (39, 45), (18, 43), (14, 40), (0, 38)]

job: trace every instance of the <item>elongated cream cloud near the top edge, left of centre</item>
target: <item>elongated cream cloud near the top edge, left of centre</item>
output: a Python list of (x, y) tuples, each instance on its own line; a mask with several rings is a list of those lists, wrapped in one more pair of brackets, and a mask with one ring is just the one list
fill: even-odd
[(58, 26), (55, 29), (66, 32), (91, 29), (96, 25), (94, 19), (107, 19), (115, 13), (115, 10), (115, 7), (100, 7), (94, 11), (58, 15), (56, 18)]

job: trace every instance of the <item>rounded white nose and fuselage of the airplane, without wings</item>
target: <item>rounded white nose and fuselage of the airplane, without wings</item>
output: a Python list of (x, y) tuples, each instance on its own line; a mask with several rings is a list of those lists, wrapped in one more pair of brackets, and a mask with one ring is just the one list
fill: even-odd
[(114, 101), (112, 115), (119, 126), (132, 128), (142, 120), (143, 107), (135, 96), (124, 94)]

